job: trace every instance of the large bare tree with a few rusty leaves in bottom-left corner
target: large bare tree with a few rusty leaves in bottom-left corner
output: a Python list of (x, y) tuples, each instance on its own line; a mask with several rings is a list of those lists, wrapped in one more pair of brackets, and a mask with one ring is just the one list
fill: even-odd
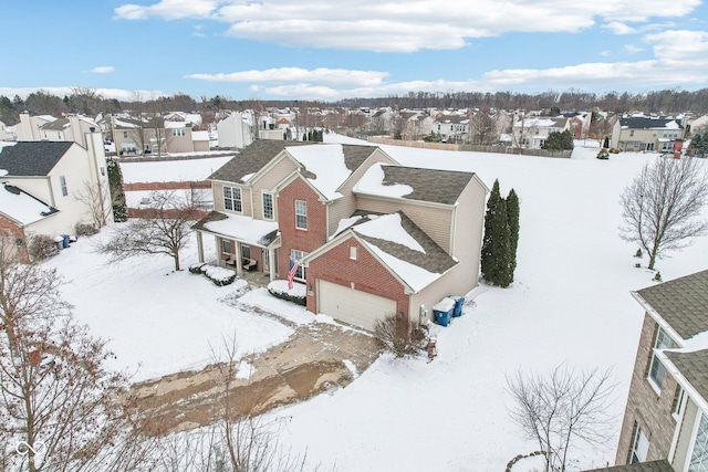
[(112, 354), (73, 321), (55, 271), (20, 264), (17, 256), (12, 242), (1, 239), (0, 465), (133, 470), (145, 442), (132, 436), (139, 428), (122, 401), (126, 377), (106, 370)]

